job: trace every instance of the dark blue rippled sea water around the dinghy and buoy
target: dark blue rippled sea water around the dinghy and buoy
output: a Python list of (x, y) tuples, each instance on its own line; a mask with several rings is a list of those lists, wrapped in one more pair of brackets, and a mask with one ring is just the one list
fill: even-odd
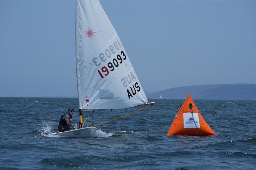
[[(184, 100), (97, 126), (92, 138), (49, 136), (76, 98), (0, 98), (0, 169), (255, 169), (256, 101), (194, 100), (217, 136), (166, 136)], [(150, 100), (152, 101), (152, 100)], [(96, 111), (86, 126), (137, 108)], [(90, 112), (91, 113), (91, 112)], [(84, 118), (87, 117), (84, 112)], [(101, 118), (95, 120), (97, 117)]]

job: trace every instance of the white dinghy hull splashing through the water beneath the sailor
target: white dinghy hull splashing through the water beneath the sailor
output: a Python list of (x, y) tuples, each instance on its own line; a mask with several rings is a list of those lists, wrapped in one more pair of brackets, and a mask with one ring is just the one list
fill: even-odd
[(65, 132), (56, 132), (49, 135), (58, 135), (63, 137), (79, 137), (79, 138), (90, 138), (93, 132), (97, 130), (95, 127), (87, 127), (82, 129), (69, 130)]

